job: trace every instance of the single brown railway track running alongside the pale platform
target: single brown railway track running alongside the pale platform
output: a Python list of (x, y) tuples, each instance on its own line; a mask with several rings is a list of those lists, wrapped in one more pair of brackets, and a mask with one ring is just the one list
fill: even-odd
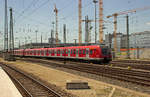
[(1, 65), (12, 80), (19, 85), (24, 97), (62, 97), (60, 94), (33, 77), (9, 65)]

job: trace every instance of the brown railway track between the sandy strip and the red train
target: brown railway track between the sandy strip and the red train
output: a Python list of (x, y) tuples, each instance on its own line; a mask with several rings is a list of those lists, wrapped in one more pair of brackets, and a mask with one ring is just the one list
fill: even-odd
[(86, 72), (90, 74), (100, 75), (104, 77), (109, 77), (113, 79), (118, 79), (121, 81), (132, 82), (138, 85), (150, 86), (150, 72), (139, 71), (139, 70), (128, 70), (125, 68), (117, 68), (117, 67), (109, 67), (104, 65), (97, 64), (86, 64), (86, 63), (59, 63), (52, 62), (48, 60), (40, 60), (40, 59), (24, 59), (24, 61), (34, 62), (34, 63), (42, 63), (45, 65), (52, 64), (56, 67), (63, 67), (72, 70), (77, 70), (81, 72)]

